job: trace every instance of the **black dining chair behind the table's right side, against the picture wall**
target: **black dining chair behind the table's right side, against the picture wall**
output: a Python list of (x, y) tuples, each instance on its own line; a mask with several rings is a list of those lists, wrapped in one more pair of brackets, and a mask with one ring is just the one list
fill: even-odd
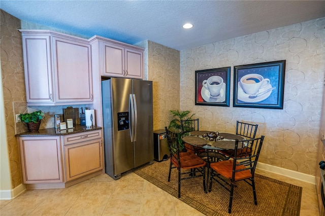
[[(258, 124), (250, 124), (245, 122), (237, 121), (236, 134), (247, 139), (253, 139), (256, 136)], [(219, 153), (225, 155), (228, 158), (234, 157), (234, 150), (219, 150)], [(241, 150), (237, 152), (237, 156), (241, 155)]]

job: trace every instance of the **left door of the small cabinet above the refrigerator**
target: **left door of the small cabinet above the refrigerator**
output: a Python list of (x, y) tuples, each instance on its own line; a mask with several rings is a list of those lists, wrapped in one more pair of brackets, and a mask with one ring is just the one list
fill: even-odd
[(103, 42), (103, 75), (124, 77), (124, 48)]

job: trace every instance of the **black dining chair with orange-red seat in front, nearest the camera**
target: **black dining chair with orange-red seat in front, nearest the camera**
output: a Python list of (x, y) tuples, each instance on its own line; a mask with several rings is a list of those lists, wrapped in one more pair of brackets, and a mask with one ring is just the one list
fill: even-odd
[[(210, 164), (209, 192), (211, 192), (212, 188), (212, 179), (230, 192), (229, 213), (232, 211), (234, 187), (236, 186), (236, 190), (240, 190), (236, 184), (239, 181), (244, 181), (252, 186), (254, 203), (257, 205), (254, 173), (263, 140), (263, 135), (254, 139), (243, 139), (240, 141), (236, 139), (233, 160), (224, 160)], [(236, 157), (239, 151), (241, 151), (241, 154), (239, 157)]]

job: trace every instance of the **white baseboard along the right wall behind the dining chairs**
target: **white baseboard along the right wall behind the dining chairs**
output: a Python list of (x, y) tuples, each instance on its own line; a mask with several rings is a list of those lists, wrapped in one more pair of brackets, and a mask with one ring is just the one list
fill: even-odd
[(283, 175), (289, 178), (294, 178), (302, 182), (307, 182), (310, 184), (315, 185), (315, 176), (314, 175), (308, 175), (302, 172), (297, 172), (289, 169), (284, 169), (278, 166), (272, 166), (270, 164), (265, 163), (257, 163), (256, 169), (262, 169), (269, 172), (273, 172), (279, 175)]

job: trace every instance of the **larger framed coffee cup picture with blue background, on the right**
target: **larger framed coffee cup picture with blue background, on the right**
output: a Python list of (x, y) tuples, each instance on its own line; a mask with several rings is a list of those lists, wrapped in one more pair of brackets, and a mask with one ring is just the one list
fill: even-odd
[[(240, 80), (242, 77), (246, 76), (243, 78), (243, 80), (246, 80), (244, 82), (255, 82), (253, 81), (255, 79), (253, 74), (261, 75), (266, 80), (257, 93), (266, 93), (260, 94), (255, 98), (249, 98), (249, 95), (252, 93), (247, 94), (243, 90), (243, 86), (246, 88), (246, 91), (250, 91), (250, 89), (247, 90), (247, 88), (250, 87), (247, 87), (247, 84), (242, 84), (243, 82)], [(285, 60), (234, 66), (233, 106), (283, 109), (284, 75)], [(260, 79), (257, 79), (256, 81), (259, 82), (259, 80)], [(269, 80), (269, 84), (267, 84), (267, 80)], [(275, 87), (275, 89), (272, 90), (271, 88), (273, 87)], [(271, 90), (268, 91), (268, 89)]]

